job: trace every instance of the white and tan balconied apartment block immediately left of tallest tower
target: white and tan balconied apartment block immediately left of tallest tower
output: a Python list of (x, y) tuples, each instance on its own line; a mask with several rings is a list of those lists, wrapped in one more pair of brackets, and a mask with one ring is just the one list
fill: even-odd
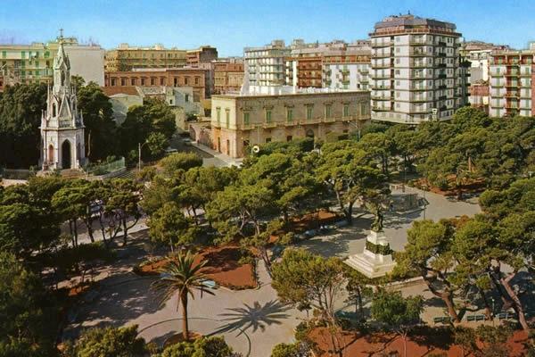
[(370, 90), (371, 47), (360, 42), (324, 53), (323, 87)]

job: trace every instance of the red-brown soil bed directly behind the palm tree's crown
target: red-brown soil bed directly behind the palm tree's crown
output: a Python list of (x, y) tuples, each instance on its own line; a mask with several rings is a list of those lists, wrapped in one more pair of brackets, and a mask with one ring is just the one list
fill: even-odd
[[(240, 264), (243, 254), (237, 245), (224, 245), (204, 248), (195, 256), (195, 262), (208, 261), (202, 272), (207, 278), (214, 280), (220, 286), (230, 289), (250, 289), (257, 287), (257, 281), (252, 264)], [(159, 270), (167, 264), (167, 259), (146, 262), (136, 266), (134, 272), (138, 275), (159, 275)]]

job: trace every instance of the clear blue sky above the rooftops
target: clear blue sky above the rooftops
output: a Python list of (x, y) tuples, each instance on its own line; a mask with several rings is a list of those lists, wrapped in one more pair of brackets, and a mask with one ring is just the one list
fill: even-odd
[(106, 49), (218, 47), (219, 56), (281, 38), (307, 42), (368, 37), (392, 14), (454, 22), (466, 40), (524, 48), (535, 40), (535, 0), (0, 0), (0, 43), (65, 36)]

